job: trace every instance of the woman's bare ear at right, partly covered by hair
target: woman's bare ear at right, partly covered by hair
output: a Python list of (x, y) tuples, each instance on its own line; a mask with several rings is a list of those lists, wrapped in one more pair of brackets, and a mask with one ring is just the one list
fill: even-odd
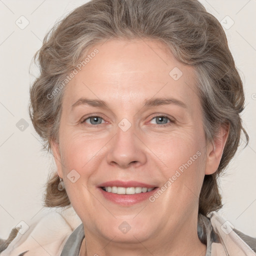
[(229, 124), (221, 125), (217, 136), (207, 145), (206, 175), (212, 174), (217, 170), (228, 137), (228, 132)]

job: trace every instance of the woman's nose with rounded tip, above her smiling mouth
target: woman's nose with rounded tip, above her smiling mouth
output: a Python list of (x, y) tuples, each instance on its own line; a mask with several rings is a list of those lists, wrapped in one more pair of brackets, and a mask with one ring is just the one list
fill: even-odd
[(123, 131), (117, 126), (115, 136), (109, 141), (106, 159), (119, 168), (138, 167), (146, 162), (146, 146), (135, 133), (133, 126)]

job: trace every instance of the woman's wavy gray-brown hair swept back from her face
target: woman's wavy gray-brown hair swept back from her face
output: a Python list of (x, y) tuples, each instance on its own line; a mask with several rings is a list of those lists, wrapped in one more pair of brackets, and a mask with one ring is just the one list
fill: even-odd
[[(219, 166), (204, 176), (199, 195), (198, 213), (218, 210), (222, 204), (217, 178), (234, 156), (241, 131), (247, 143), (249, 138), (239, 115), (244, 109), (242, 81), (225, 33), (197, 0), (91, 0), (58, 21), (33, 58), (40, 74), (30, 87), (29, 115), (43, 148), (51, 151), (50, 141), (58, 141), (65, 89), (61, 82), (89, 49), (110, 37), (157, 40), (178, 61), (194, 68), (206, 141), (213, 141), (221, 125), (229, 126)], [(45, 206), (70, 205), (66, 191), (57, 189), (58, 182), (54, 172), (46, 184)]]

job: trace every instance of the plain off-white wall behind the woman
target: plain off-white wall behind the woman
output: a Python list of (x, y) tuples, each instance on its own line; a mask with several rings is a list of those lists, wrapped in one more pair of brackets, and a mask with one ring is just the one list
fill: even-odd
[[(1, 238), (6, 238), (18, 222), (29, 222), (43, 210), (43, 185), (49, 171), (55, 169), (52, 156), (41, 150), (40, 138), (28, 116), (29, 86), (38, 73), (34, 67), (32, 75), (28, 73), (30, 61), (55, 21), (85, 2), (0, 0)], [(243, 150), (244, 142), (241, 143), (220, 180), (224, 203), (220, 212), (235, 228), (256, 236), (256, 0), (200, 2), (225, 27), (244, 82), (246, 106), (242, 119), (250, 137), (249, 145)], [(22, 27), (26, 22), (29, 22), (27, 26)]]

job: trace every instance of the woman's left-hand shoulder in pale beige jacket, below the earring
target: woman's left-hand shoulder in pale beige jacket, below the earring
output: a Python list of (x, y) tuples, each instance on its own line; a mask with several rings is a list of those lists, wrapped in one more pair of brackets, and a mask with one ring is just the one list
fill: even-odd
[(13, 227), (6, 240), (0, 239), (0, 256), (60, 255), (80, 223), (72, 207), (44, 210), (33, 221)]

